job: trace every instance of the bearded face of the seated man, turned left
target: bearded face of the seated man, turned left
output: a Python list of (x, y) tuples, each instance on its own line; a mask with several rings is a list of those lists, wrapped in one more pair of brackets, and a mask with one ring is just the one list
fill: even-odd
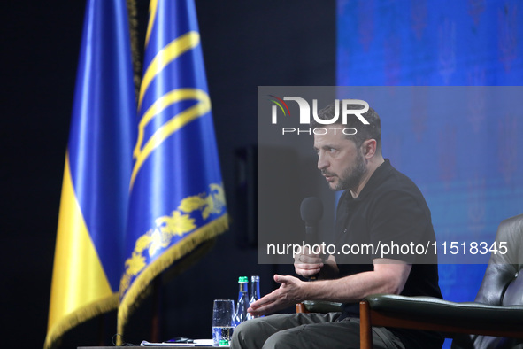
[(342, 134), (329, 129), (325, 135), (314, 135), (318, 168), (331, 190), (356, 190), (367, 171), (361, 148)]

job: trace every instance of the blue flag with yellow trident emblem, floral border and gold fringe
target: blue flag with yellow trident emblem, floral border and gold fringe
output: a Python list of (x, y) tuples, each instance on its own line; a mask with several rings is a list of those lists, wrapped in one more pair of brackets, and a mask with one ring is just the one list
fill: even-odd
[(119, 332), (150, 282), (228, 228), (192, 0), (150, 1)]

